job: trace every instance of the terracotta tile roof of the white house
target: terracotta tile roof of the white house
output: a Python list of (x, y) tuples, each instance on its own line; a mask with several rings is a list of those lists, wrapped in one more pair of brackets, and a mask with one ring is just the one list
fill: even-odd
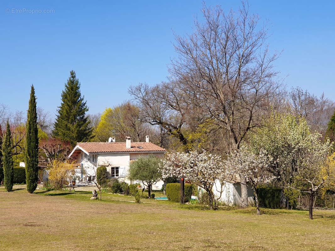
[(77, 143), (88, 153), (119, 153), (119, 152), (165, 152), (164, 148), (151, 142), (131, 142), (131, 148), (126, 148), (126, 142), (86, 142)]

